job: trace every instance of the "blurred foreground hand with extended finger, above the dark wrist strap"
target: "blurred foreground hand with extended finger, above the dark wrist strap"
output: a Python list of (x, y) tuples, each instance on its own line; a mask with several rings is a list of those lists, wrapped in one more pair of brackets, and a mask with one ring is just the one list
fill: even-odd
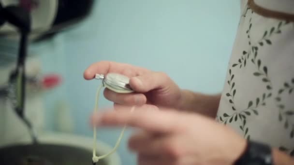
[(92, 124), (141, 129), (129, 140), (138, 165), (233, 165), (246, 140), (210, 118), (171, 109), (138, 108), (94, 114)]

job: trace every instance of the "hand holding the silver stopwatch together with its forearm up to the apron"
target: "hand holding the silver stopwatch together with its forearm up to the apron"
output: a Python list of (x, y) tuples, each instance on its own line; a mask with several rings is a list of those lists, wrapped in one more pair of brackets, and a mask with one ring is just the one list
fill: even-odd
[[(115, 103), (115, 108), (130, 105), (145, 108), (173, 108), (188, 110), (215, 117), (220, 95), (210, 96), (181, 90), (165, 73), (110, 61), (92, 64), (84, 72), (84, 78), (91, 80), (95, 74), (120, 73), (130, 77), (130, 85), (135, 93), (118, 94), (109, 89), (104, 96)], [(155, 107), (154, 107), (155, 106)]]

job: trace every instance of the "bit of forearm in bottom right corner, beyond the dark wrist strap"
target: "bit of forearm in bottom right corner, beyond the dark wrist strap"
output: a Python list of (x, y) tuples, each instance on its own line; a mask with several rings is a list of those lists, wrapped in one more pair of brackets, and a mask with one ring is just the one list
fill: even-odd
[(294, 165), (294, 159), (287, 154), (273, 149), (274, 165)]

